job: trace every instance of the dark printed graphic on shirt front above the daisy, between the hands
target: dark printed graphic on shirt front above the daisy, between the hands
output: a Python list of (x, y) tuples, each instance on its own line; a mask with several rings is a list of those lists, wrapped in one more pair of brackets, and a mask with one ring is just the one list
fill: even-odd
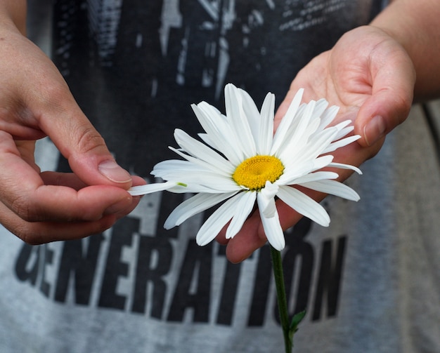
[(245, 88), (257, 105), (269, 91), (279, 103), (296, 72), (367, 22), (371, 6), (58, 0), (53, 60), (119, 163), (148, 176), (159, 161), (174, 158), (167, 150), (175, 145), (174, 128), (200, 133), (190, 104), (205, 100), (224, 111), (228, 82)]

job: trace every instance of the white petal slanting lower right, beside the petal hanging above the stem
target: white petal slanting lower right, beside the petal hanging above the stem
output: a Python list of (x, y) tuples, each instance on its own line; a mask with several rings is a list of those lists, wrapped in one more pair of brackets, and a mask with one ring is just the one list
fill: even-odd
[(294, 187), (280, 186), (277, 196), (295, 211), (319, 225), (328, 227), (330, 224), (330, 217), (323, 206)]

